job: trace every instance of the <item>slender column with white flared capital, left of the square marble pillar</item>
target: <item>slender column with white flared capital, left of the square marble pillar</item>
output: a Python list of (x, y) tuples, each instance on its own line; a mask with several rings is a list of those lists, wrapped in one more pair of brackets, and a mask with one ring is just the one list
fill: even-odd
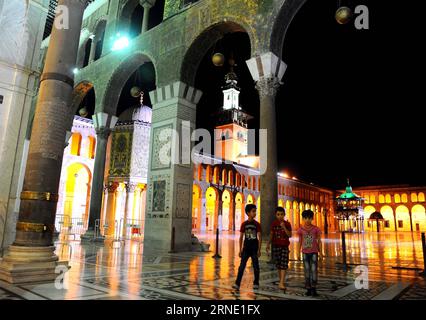
[(108, 137), (111, 129), (115, 127), (117, 120), (117, 117), (106, 113), (97, 113), (93, 116), (93, 124), (96, 130), (96, 156), (93, 169), (92, 190), (90, 193), (89, 225), (86, 233), (81, 236), (82, 241), (103, 240), (103, 238), (95, 239), (95, 223), (101, 217)]

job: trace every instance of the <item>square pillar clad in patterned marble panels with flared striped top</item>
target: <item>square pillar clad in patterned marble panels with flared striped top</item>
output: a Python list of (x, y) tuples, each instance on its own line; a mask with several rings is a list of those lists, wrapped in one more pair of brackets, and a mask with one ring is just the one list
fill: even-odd
[[(193, 168), (190, 133), (201, 92), (175, 82), (150, 93), (153, 104), (144, 250), (191, 250)], [(180, 143), (172, 133), (179, 133)], [(185, 152), (179, 155), (179, 150)], [(170, 159), (170, 155), (174, 159)], [(182, 161), (184, 160), (184, 161)]]

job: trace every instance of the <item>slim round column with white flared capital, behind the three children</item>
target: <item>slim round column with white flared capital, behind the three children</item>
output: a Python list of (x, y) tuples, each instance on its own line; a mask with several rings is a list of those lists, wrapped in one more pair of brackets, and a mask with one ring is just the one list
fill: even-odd
[(261, 224), (263, 234), (267, 236), (278, 203), (275, 96), (284, 76), (286, 64), (275, 54), (268, 52), (248, 60), (247, 65), (259, 91), (260, 129), (267, 130), (267, 151), (264, 154), (260, 152), (260, 167), (266, 167), (260, 180)]

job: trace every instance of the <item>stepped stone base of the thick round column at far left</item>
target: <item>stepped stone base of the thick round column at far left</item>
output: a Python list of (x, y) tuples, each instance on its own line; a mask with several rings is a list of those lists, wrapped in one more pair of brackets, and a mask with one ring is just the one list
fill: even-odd
[(67, 261), (58, 261), (55, 247), (24, 247), (11, 245), (0, 260), (0, 280), (22, 284), (55, 281), (61, 272), (57, 266), (69, 268)]

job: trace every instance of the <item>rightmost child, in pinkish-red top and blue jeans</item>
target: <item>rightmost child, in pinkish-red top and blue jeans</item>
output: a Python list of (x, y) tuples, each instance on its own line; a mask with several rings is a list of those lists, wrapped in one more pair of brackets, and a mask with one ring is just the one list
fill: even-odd
[(305, 269), (305, 287), (307, 296), (318, 296), (318, 256), (321, 254), (321, 230), (312, 224), (314, 213), (311, 210), (302, 212), (303, 226), (297, 230), (299, 235), (299, 252), (303, 254)]

